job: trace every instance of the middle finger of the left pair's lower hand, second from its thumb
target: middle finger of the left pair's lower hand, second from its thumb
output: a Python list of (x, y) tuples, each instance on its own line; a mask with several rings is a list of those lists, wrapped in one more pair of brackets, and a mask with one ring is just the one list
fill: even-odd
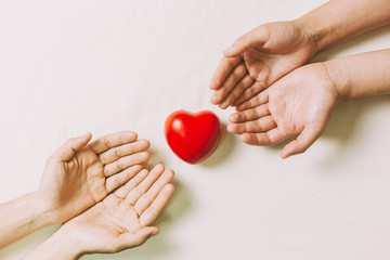
[(173, 171), (166, 170), (160, 178), (152, 185), (152, 187), (140, 197), (140, 199), (135, 203), (134, 209), (141, 216), (145, 209), (151, 206), (151, 204), (156, 199), (158, 193), (162, 190), (162, 187), (170, 183), (173, 179)]

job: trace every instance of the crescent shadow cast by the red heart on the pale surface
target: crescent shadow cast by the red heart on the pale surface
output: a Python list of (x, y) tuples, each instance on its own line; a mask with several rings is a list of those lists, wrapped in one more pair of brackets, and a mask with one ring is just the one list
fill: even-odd
[(222, 136), (217, 150), (204, 161), (200, 162), (202, 167), (212, 168), (221, 165), (229, 159), (236, 145), (235, 134), (227, 132), (226, 125), (222, 123)]

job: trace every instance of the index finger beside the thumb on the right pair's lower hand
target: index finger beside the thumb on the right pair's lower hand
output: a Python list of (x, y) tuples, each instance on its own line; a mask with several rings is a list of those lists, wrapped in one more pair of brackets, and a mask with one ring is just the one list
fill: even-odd
[(284, 134), (280, 129), (274, 128), (264, 133), (243, 133), (239, 139), (250, 145), (272, 145), (277, 144), (289, 136)]

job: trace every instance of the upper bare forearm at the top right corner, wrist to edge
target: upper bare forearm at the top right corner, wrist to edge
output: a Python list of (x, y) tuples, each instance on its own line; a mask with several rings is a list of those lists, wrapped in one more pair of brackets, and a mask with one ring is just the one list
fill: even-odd
[(318, 51), (390, 23), (389, 0), (330, 0), (296, 21)]

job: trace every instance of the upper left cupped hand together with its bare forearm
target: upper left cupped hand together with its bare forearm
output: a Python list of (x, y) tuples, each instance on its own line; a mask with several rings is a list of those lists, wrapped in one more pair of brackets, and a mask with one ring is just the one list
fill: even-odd
[(0, 205), (0, 248), (102, 202), (142, 169), (148, 141), (131, 131), (68, 140), (47, 161), (37, 191)]

